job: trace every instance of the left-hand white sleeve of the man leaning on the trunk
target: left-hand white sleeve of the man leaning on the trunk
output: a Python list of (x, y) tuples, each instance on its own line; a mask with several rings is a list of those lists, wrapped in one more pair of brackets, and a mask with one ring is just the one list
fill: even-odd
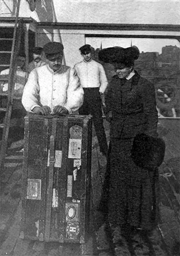
[(28, 81), (24, 86), (22, 95), (22, 104), (26, 111), (32, 112), (32, 108), (41, 107), (39, 101), (39, 84), (36, 69), (33, 69), (28, 77)]

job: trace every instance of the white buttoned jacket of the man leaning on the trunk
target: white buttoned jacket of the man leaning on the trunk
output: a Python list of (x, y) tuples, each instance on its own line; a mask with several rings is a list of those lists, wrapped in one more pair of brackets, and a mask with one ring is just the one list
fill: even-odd
[(54, 72), (46, 64), (31, 71), (24, 87), (22, 104), (28, 112), (35, 107), (48, 106), (51, 113), (55, 106), (61, 105), (71, 114), (81, 107), (83, 95), (75, 69), (62, 65)]

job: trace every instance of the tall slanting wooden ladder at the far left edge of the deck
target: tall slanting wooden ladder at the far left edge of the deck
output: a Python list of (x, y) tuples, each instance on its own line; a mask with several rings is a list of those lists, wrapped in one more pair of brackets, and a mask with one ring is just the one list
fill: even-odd
[(1, 148), (0, 148), (0, 159), (1, 159), (1, 167), (4, 166), (6, 149), (8, 146), (8, 135), (9, 135), (9, 127), (10, 127), (10, 118), (12, 113), (12, 105), (13, 105), (13, 96), (14, 96), (14, 87), (15, 87), (15, 73), (16, 73), (16, 58), (19, 53), (19, 48), (21, 44), (21, 35), (23, 31), (23, 24), (22, 20), (18, 18), (19, 16), (19, 7), (20, 1), (18, 0), (17, 3), (17, 12), (15, 18), (15, 25), (14, 25), (14, 33), (13, 33), (13, 44), (12, 44), (12, 51), (11, 51), (11, 58), (10, 58), (10, 66), (9, 66), (9, 75), (8, 78), (6, 75), (3, 77), (1, 75), (1, 81), (8, 81), (8, 94), (3, 92), (0, 93), (0, 97), (6, 96), (7, 104), (6, 108), (0, 108), (0, 112), (5, 112), (4, 122), (0, 124), (0, 127), (3, 128), (3, 136), (1, 140)]

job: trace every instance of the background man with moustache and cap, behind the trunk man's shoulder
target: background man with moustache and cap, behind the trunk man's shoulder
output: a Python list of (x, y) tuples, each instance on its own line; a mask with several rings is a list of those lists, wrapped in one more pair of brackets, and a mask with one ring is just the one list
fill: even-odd
[(32, 48), (33, 60), (28, 64), (28, 67), (27, 67), (28, 73), (30, 73), (34, 68), (37, 68), (46, 64), (45, 61), (41, 60), (42, 50), (43, 49), (41, 47)]

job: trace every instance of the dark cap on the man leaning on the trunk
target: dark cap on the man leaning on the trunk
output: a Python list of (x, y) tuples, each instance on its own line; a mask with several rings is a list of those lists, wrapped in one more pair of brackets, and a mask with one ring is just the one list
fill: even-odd
[(46, 58), (54, 58), (59, 53), (63, 53), (64, 46), (59, 42), (50, 42), (44, 45), (43, 50)]

